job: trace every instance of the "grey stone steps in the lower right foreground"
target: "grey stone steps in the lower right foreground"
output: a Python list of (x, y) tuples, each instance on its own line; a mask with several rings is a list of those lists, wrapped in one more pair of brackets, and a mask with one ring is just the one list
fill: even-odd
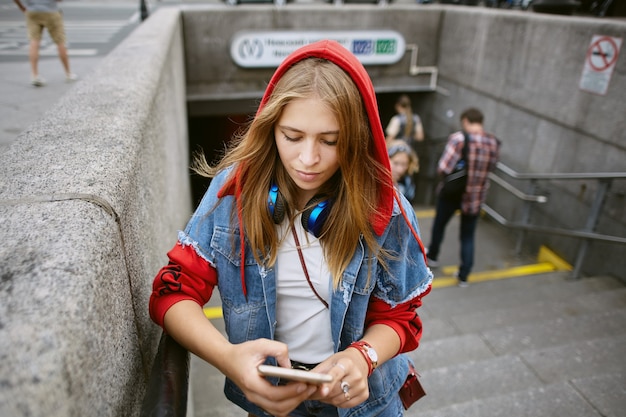
[(406, 416), (626, 413), (626, 287), (556, 272), (434, 289), (410, 355), (427, 396)]

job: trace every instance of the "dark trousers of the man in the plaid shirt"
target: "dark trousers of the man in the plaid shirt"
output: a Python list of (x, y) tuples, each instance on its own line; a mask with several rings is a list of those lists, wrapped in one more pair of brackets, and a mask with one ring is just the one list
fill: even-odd
[[(443, 236), (446, 231), (448, 222), (454, 215), (454, 212), (461, 208), (460, 202), (451, 202), (443, 198), (437, 199), (437, 213), (430, 238), (430, 246), (428, 247), (428, 257), (434, 261), (439, 257), (439, 250), (443, 242)], [(467, 276), (474, 266), (474, 235), (476, 233), (476, 224), (478, 223), (478, 215), (463, 214), (461, 212), (461, 230), (459, 239), (461, 240), (461, 265), (459, 266), (459, 279), (467, 281)]]

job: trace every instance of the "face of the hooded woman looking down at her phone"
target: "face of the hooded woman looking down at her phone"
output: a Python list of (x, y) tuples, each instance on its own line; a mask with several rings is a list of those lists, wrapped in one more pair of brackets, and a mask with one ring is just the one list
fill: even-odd
[(303, 208), (339, 169), (339, 123), (319, 98), (296, 99), (283, 109), (274, 137), (280, 160), (300, 189)]

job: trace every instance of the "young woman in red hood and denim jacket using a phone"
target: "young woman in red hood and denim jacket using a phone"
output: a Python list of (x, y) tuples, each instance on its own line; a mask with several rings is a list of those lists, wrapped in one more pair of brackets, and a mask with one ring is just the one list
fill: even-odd
[[(247, 132), (201, 165), (213, 180), (154, 280), (153, 320), (250, 415), (402, 415), (432, 273), (356, 57), (334, 41), (293, 52)], [(215, 286), (227, 339), (202, 311)], [(277, 383), (264, 363), (333, 380)]]

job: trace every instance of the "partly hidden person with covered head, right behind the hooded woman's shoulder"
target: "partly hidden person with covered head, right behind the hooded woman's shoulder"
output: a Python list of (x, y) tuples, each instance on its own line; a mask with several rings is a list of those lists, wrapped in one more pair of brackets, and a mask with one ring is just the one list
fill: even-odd
[(413, 175), (419, 171), (417, 154), (403, 140), (388, 143), (388, 153), (393, 184), (407, 200), (413, 202), (415, 198)]

